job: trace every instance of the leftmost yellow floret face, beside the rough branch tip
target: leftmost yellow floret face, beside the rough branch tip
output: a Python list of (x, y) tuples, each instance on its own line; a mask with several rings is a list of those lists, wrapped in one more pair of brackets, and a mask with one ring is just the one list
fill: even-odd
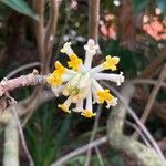
[(56, 75), (51, 74), (50, 76), (46, 77), (46, 81), (49, 84), (55, 87), (62, 84), (62, 76), (59, 74)]

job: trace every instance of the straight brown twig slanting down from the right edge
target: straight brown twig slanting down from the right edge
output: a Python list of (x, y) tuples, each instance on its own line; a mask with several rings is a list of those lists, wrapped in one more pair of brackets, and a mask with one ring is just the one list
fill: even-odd
[[(157, 95), (157, 93), (158, 93), (158, 91), (160, 89), (160, 85), (162, 85), (163, 81), (165, 80), (165, 77), (166, 77), (166, 64), (164, 65), (164, 69), (160, 72), (160, 75), (159, 75), (159, 79), (157, 81), (157, 84), (154, 86), (154, 89), (153, 89), (153, 91), (152, 91), (152, 93), (151, 93), (151, 95), (148, 97), (148, 101), (147, 101), (147, 104), (145, 106), (144, 113), (143, 113), (142, 117), (141, 117), (141, 122), (143, 124), (145, 124), (147, 117), (151, 114), (151, 110), (152, 110), (153, 103), (154, 103), (154, 101), (156, 98), (156, 95)], [(137, 137), (137, 134), (135, 133), (134, 136)]]

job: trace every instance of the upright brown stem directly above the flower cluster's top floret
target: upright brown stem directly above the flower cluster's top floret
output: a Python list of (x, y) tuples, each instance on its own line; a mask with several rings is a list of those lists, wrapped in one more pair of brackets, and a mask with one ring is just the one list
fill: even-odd
[(100, 0), (89, 0), (89, 38), (98, 40)]

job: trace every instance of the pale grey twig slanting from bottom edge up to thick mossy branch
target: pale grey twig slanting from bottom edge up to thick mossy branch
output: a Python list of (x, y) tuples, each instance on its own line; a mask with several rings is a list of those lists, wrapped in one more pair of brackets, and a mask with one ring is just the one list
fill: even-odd
[(65, 164), (69, 159), (71, 159), (74, 156), (77, 156), (84, 152), (86, 152), (89, 148), (93, 148), (95, 146), (100, 146), (102, 144), (105, 144), (107, 142), (107, 136), (103, 136), (102, 138), (98, 138), (96, 141), (93, 141), (92, 143), (84, 145), (82, 147), (76, 148), (75, 151), (62, 156), (60, 159), (58, 159), (55, 163), (53, 163), (51, 166), (62, 166), (62, 164)]

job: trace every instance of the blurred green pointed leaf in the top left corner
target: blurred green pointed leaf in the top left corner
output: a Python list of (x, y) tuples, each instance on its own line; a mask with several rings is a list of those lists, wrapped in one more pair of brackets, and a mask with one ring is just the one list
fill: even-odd
[(28, 15), (34, 20), (38, 20), (38, 14), (29, 7), (29, 4), (24, 0), (0, 0), (0, 2), (4, 3), (9, 8)]

